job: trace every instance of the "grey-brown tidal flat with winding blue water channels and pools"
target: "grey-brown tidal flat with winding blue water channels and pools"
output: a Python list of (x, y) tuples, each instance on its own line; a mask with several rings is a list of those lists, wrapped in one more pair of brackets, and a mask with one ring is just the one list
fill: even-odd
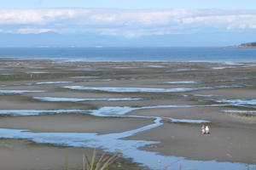
[[(0, 165), (256, 168), (256, 63), (0, 59)], [(250, 113), (250, 114), (248, 114)], [(210, 127), (201, 134), (201, 126)]]

